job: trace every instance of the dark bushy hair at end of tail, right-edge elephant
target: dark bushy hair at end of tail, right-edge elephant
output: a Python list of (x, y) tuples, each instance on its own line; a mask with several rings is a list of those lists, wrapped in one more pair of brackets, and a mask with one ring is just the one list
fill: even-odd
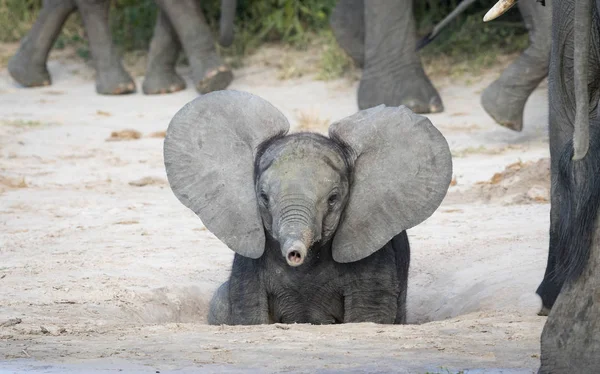
[(555, 182), (558, 196), (557, 268), (553, 277), (575, 281), (585, 269), (600, 208), (600, 129), (591, 128), (587, 156), (573, 160), (569, 141), (560, 156)]

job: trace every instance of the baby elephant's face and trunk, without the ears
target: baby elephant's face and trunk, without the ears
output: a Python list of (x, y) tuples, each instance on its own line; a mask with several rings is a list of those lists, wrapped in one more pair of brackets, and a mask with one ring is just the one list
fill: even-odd
[(259, 150), (260, 215), (290, 266), (301, 265), (314, 243), (332, 239), (348, 201), (351, 168), (343, 146), (317, 134), (276, 138)]

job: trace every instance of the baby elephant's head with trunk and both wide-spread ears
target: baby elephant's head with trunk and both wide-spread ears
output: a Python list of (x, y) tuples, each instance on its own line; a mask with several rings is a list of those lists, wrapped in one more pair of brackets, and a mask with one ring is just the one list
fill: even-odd
[(450, 185), (446, 140), (406, 107), (362, 110), (329, 137), (288, 129), (271, 104), (230, 90), (200, 96), (169, 124), (173, 192), (240, 255), (259, 258), (268, 236), (290, 266), (316, 243), (358, 261), (427, 219)]

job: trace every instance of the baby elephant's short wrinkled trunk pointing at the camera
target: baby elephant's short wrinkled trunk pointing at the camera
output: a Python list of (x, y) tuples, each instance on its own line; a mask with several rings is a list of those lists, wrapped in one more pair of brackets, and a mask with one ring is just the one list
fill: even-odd
[(288, 201), (275, 213), (274, 232), (281, 245), (281, 254), (288, 265), (300, 266), (309, 248), (321, 238), (320, 224), (308, 201)]

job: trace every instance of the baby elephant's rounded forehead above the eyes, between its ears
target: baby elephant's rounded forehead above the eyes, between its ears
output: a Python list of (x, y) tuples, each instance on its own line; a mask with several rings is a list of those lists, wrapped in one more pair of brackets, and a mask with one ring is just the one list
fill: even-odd
[[(270, 166), (326, 163), (338, 172), (346, 168), (341, 149), (331, 139), (316, 134), (297, 134), (271, 144), (260, 160), (260, 169)], [(299, 165), (298, 165), (299, 166)]]

